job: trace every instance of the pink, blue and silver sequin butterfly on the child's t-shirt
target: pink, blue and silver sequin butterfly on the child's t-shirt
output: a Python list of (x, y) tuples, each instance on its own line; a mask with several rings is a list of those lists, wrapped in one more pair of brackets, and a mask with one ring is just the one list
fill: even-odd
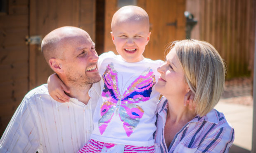
[(126, 88), (123, 95), (118, 88), (117, 72), (113, 63), (107, 65), (102, 78), (104, 80), (103, 104), (100, 108), (101, 118), (98, 121), (100, 134), (104, 133), (113, 115), (119, 114), (123, 128), (130, 137), (144, 114), (143, 109), (135, 103), (149, 100), (152, 87), (156, 83), (154, 73), (152, 69), (147, 68)]

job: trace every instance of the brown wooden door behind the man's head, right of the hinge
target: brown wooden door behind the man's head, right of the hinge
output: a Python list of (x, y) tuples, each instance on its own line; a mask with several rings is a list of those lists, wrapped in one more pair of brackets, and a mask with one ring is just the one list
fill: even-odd
[[(44, 37), (62, 26), (76, 26), (95, 39), (95, 0), (31, 0), (30, 36)], [(47, 83), (53, 71), (45, 62), (39, 45), (29, 45), (29, 89)]]

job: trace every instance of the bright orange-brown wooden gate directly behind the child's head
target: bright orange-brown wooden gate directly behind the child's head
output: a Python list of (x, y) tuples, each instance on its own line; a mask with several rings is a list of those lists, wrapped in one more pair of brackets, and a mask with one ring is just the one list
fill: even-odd
[[(114, 51), (111, 39), (111, 19), (119, 9), (118, 0), (106, 0), (104, 52)], [(164, 51), (169, 42), (185, 39), (185, 0), (137, 0), (149, 15), (151, 36), (144, 56), (153, 60), (164, 60)]]

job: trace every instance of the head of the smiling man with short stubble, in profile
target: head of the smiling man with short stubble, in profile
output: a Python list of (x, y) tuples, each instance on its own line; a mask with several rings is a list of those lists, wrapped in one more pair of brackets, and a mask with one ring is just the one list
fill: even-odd
[(87, 32), (76, 27), (61, 27), (42, 41), (45, 60), (67, 86), (86, 86), (100, 81), (95, 43)]

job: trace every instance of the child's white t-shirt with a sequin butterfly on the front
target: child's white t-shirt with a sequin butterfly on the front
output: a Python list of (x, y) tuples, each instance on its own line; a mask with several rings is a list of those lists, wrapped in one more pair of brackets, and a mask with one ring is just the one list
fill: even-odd
[(98, 61), (102, 74), (102, 98), (97, 103), (91, 139), (134, 146), (154, 145), (156, 107), (159, 93), (157, 67), (162, 60), (128, 63), (113, 52)]

